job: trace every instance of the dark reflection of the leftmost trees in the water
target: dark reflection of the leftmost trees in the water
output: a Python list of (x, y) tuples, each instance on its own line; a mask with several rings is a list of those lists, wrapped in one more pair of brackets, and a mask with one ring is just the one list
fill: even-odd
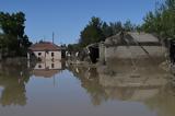
[(0, 104), (2, 106), (26, 105), (25, 84), (30, 80), (26, 63), (1, 65), (0, 86), (3, 88)]

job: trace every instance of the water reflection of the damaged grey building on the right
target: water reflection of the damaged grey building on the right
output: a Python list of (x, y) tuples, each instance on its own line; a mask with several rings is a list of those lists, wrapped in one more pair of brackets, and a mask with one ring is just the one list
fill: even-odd
[(143, 101), (159, 94), (167, 84), (167, 72), (158, 62), (138, 61), (137, 67), (120, 60), (100, 68), (100, 83), (112, 98)]

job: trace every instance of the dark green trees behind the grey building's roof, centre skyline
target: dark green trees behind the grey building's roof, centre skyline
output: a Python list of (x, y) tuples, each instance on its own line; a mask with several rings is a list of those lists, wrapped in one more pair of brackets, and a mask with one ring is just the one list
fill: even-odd
[(130, 32), (141, 30), (141, 27), (136, 26), (129, 20), (125, 24), (120, 21), (106, 23), (100, 18), (93, 16), (80, 34), (79, 46), (85, 47), (90, 44), (104, 42), (107, 37), (124, 30)]

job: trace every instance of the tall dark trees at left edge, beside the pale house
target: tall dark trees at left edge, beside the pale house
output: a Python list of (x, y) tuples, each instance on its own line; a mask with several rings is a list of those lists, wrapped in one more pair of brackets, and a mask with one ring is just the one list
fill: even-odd
[(0, 50), (3, 57), (26, 56), (31, 46), (25, 35), (25, 14), (0, 12)]

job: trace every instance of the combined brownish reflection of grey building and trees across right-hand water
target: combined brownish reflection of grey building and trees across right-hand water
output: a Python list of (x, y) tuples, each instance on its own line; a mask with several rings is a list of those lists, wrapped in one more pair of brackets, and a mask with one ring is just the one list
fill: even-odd
[(138, 69), (125, 61), (97, 69), (70, 66), (69, 70), (81, 80), (94, 105), (107, 101), (139, 102), (158, 112), (158, 116), (174, 116), (175, 88), (168, 83), (168, 72), (159, 61), (137, 62)]

